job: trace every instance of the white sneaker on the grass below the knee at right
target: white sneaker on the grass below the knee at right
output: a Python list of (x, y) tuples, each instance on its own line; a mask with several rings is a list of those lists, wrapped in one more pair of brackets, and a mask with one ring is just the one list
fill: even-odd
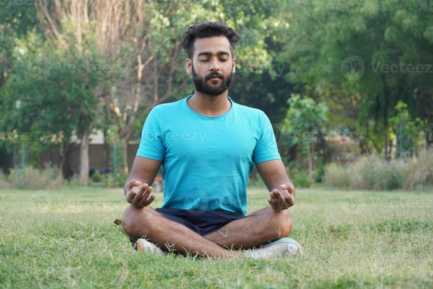
[(297, 258), (303, 255), (301, 245), (291, 238), (281, 238), (270, 244), (263, 245), (258, 249), (244, 250), (244, 253), (247, 257), (254, 259), (269, 259), (282, 255)]

